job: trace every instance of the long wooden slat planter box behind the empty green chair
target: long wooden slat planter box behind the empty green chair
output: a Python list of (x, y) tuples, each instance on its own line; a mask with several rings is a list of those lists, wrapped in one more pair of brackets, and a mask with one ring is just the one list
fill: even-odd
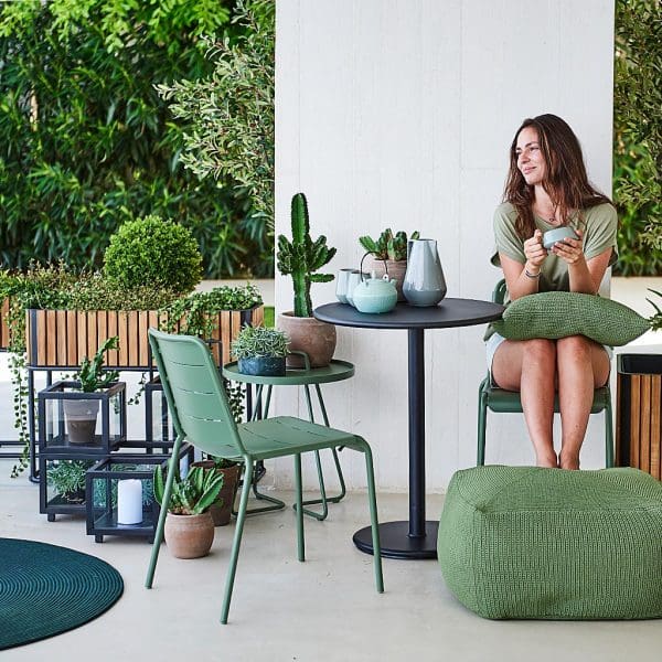
[[(229, 344), (244, 324), (264, 322), (264, 306), (249, 310), (223, 310), (217, 313), (210, 340), (214, 360), (227, 363)], [(166, 322), (156, 310), (28, 310), (25, 341), (31, 367), (76, 369), (85, 356), (92, 357), (113, 335), (119, 349), (108, 350), (105, 365), (111, 369), (151, 367), (148, 330)], [(175, 332), (179, 330), (179, 324)], [(221, 353), (222, 350), (222, 353)]]

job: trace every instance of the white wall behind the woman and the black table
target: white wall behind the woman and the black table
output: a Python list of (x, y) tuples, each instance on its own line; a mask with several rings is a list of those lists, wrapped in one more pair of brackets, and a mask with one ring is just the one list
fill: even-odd
[[(488, 299), (500, 277), (489, 264), (492, 212), (523, 118), (564, 117), (610, 193), (612, 42), (612, 0), (278, 0), (276, 232), (289, 234), (289, 201), (303, 191), (313, 237), (338, 248), (329, 270), (359, 264), (359, 235), (419, 229), (439, 241), (448, 296)], [(334, 285), (313, 285), (312, 296), (332, 301)], [(291, 309), (278, 275), (276, 306)], [(428, 491), (474, 463), (482, 333), (426, 332)], [(406, 332), (338, 334), (335, 355), (356, 376), (325, 388), (331, 423), (372, 444), (382, 490), (405, 490)], [(306, 415), (293, 391), (276, 409)], [(604, 463), (601, 435), (592, 421), (584, 467)], [(360, 488), (351, 455), (348, 483)], [(520, 416), (489, 420), (487, 457), (532, 462)], [(288, 485), (289, 462), (274, 476)]]

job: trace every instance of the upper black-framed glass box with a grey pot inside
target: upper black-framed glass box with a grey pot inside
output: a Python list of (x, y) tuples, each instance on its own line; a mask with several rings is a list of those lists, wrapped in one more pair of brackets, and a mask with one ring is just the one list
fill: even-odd
[(78, 387), (61, 381), (39, 393), (40, 455), (108, 455), (126, 440), (125, 383), (94, 393)]

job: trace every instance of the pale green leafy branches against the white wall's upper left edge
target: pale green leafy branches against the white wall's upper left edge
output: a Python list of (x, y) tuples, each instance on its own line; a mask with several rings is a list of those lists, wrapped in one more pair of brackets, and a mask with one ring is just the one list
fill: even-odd
[(244, 30), (209, 42), (212, 75), (158, 86), (183, 121), (184, 166), (246, 192), (253, 217), (271, 231), (275, 12), (273, 0), (237, 0), (234, 21)]

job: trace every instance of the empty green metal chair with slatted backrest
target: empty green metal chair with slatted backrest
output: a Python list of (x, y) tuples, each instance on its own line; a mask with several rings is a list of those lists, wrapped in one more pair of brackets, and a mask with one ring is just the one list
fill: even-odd
[[(149, 337), (177, 433), (170, 460), (171, 469), (178, 461), (180, 446), (184, 440), (213, 456), (243, 461), (245, 476), (253, 474), (253, 468), (257, 460), (293, 456), (299, 560), (305, 560), (301, 453), (344, 446), (365, 455), (375, 584), (377, 591), (383, 592), (375, 481), (372, 452), (367, 442), (356, 435), (289, 416), (236, 425), (218, 369), (214, 364), (207, 346), (197, 338), (171, 335), (153, 329), (149, 330)], [(163, 504), (170, 501), (174, 473), (173, 470), (168, 472)], [(248, 485), (244, 485), (221, 609), (222, 623), (227, 622), (249, 492)], [(147, 588), (152, 586), (159, 549), (163, 540), (167, 511), (168, 509), (163, 505), (145, 581)]]

